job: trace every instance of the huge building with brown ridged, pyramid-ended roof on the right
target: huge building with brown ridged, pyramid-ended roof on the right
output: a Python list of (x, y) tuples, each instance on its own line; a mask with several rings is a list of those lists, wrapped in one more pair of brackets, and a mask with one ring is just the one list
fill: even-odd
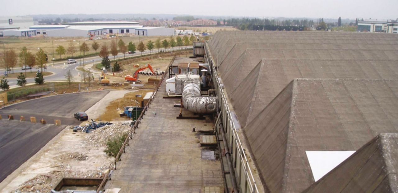
[(397, 35), (219, 31), (206, 48), (259, 192), (396, 192)]

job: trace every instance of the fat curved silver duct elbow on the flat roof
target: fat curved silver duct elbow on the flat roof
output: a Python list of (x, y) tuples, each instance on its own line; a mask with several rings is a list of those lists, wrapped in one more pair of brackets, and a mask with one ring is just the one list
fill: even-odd
[(189, 83), (184, 86), (182, 103), (192, 113), (207, 114), (217, 110), (217, 97), (201, 96), (200, 85)]

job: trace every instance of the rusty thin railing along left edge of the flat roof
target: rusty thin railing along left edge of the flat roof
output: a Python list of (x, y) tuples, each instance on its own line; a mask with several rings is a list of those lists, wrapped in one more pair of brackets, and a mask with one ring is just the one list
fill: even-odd
[[(170, 61), (167, 69), (170, 67), (170, 65), (172, 65), (172, 63), (174, 62), (174, 59), (176, 59), (175, 56), (173, 57), (172, 61)], [(121, 154), (122, 153), (126, 153), (125, 148), (126, 148), (126, 146), (129, 145), (129, 140), (133, 139), (133, 134), (135, 134), (135, 130), (138, 128), (138, 124), (140, 124), (141, 119), (142, 119), (142, 117), (145, 114), (145, 111), (148, 109), (150, 103), (152, 103), (152, 101), (153, 101), (153, 98), (156, 96), (156, 93), (158, 92), (158, 90), (160, 88), (160, 85), (164, 81), (164, 78), (166, 77), (166, 74), (167, 73), (164, 73), (162, 75), (162, 77), (160, 78), (160, 81), (156, 85), (156, 87), (154, 89), (154, 92), (152, 93), (152, 95), (148, 99), (148, 103), (146, 103), (144, 109), (142, 109), (142, 112), (141, 112), (140, 116), (137, 118), (137, 121), (135, 122), (133, 127), (131, 127), (131, 129), (129, 130), (129, 134), (128, 134), (126, 140), (124, 141), (123, 145), (121, 146), (119, 152), (117, 153), (117, 155), (115, 157), (115, 160), (109, 164), (109, 170), (104, 174), (104, 178), (103, 178), (101, 184), (97, 188), (97, 193), (100, 193), (101, 189), (103, 189), (103, 187), (105, 186), (105, 183), (107, 182), (107, 180), (111, 180), (112, 172), (113, 172), (113, 170), (116, 170), (116, 162), (121, 161)]]

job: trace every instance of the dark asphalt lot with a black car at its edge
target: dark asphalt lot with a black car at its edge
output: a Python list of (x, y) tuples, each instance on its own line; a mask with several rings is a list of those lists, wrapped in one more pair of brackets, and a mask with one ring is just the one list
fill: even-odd
[[(86, 111), (107, 93), (108, 91), (64, 94), (33, 99), (0, 109), (3, 117), (0, 120), (0, 182), (67, 125), (79, 124), (73, 118), (73, 113)], [(13, 115), (16, 120), (7, 120), (8, 115)], [(20, 122), (20, 116), (25, 116), (26, 121)], [(31, 123), (31, 116), (36, 117), (38, 122), (43, 118), (48, 124)], [(55, 126), (54, 119), (60, 119), (62, 125)]]

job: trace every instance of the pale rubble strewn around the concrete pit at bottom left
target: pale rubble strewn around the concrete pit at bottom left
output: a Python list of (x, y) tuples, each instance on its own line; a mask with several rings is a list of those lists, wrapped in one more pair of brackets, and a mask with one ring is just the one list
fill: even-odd
[(87, 172), (76, 172), (70, 165), (60, 164), (57, 170), (46, 174), (39, 174), (35, 178), (23, 183), (15, 193), (21, 192), (51, 192), (51, 188), (56, 185), (61, 178), (103, 178), (107, 165), (97, 167)]

